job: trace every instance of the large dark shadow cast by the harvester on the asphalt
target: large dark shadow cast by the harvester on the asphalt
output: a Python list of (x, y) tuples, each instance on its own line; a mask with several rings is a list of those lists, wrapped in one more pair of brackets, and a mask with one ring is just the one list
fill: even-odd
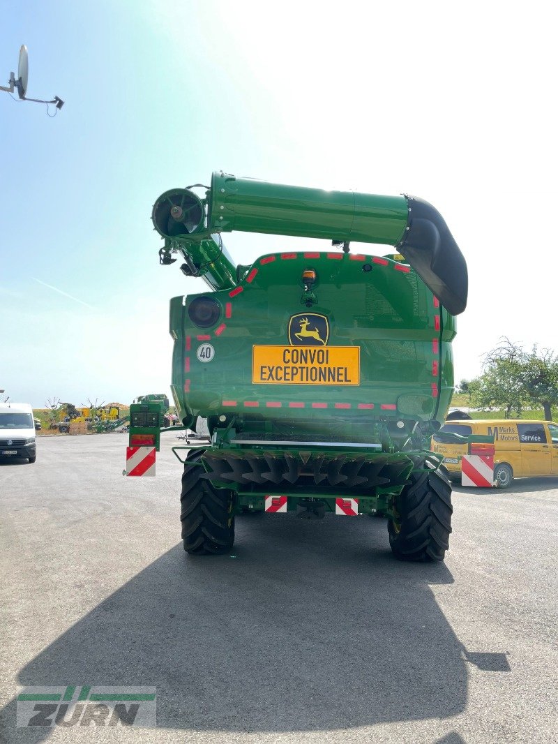
[[(230, 556), (187, 557), (176, 545), (18, 682), (155, 686), (158, 727), (180, 731), (455, 716), (466, 706), (466, 661), (429, 588), (451, 583), (443, 563), (394, 559), (385, 520), (239, 518)], [(48, 738), (51, 729), (16, 733), (15, 700), (4, 715), (8, 740)]]

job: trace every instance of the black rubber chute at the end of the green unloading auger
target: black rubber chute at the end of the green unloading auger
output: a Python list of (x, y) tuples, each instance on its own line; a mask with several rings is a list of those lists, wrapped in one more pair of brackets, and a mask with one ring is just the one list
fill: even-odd
[(397, 250), (452, 315), (467, 304), (467, 266), (446, 222), (432, 204), (407, 196), (409, 214), (405, 236)]

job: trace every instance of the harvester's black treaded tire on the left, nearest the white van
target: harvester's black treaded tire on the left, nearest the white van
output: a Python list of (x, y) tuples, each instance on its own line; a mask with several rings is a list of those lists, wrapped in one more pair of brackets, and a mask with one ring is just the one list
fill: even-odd
[(180, 495), (182, 539), (185, 551), (194, 556), (228, 553), (234, 543), (232, 492), (214, 488), (199, 478), (204, 471), (203, 452), (188, 452)]

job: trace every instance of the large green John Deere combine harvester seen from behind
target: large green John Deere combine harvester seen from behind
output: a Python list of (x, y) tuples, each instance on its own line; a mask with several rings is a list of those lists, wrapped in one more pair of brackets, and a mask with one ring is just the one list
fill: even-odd
[[(454, 315), (467, 296), (443, 218), (411, 196), (226, 173), (203, 198), (193, 188), (162, 194), (152, 215), (160, 263), (180, 257), (208, 285), (170, 301), (176, 409), (187, 429), (202, 420), (211, 434), (184, 462), (185, 550), (230, 551), (240, 513), (330, 512), (385, 515), (397, 557), (442, 560), (451, 487), (429, 442), (452, 397)], [(332, 247), (236, 266), (222, 242), (233, 230)], [(397, 252), (356, 253), (353, 242)], [(132, 405), (130, 444), (158, 448), (146, 411)]]

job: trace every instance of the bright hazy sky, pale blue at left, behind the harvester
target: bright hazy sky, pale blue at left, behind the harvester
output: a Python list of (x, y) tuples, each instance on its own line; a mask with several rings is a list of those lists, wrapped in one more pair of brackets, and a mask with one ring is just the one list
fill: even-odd
[[(501, 336), (557, 348), (557, 45), (551, 4), (2, 1), (0, 389), (129, 403), (168, 392), (153, 202), (213, 170), (411, 193), (469, 266), (455, 379)], [(4, 80), (5, 78), (5, 80)], [(51, 107), (49, 113), (54, 113)], [(237, 263), (326, 241), (231, 233)], [(386, 246), (354, 250), (388, 253)]]

